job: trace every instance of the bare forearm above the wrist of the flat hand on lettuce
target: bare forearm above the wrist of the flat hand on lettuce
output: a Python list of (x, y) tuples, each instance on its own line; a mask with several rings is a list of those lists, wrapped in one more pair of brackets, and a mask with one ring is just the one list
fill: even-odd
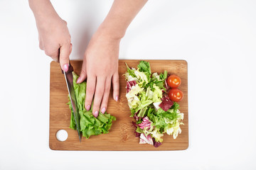
[(122, 38), (137, 13), (147, 0), (114, 0), (110, 12), (100, 25), (103, 33), (112, 38)]

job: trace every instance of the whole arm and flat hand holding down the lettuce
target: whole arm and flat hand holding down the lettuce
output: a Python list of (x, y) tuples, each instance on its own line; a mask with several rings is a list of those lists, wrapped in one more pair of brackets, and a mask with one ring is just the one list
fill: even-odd
[(118, 101), (119, 75), (118, 55), (119, 42), (127, 30), (129, 23), (137, 15), (147, 0), (114, 0), (107, 17), (89, 42), (82, 63), (82, 72), (78, 83), (87, 78), (85, 108), (93, 108), (92, 114), (97, 117), (99, 111), (105, 113), (113, 86), (113, 98)]

